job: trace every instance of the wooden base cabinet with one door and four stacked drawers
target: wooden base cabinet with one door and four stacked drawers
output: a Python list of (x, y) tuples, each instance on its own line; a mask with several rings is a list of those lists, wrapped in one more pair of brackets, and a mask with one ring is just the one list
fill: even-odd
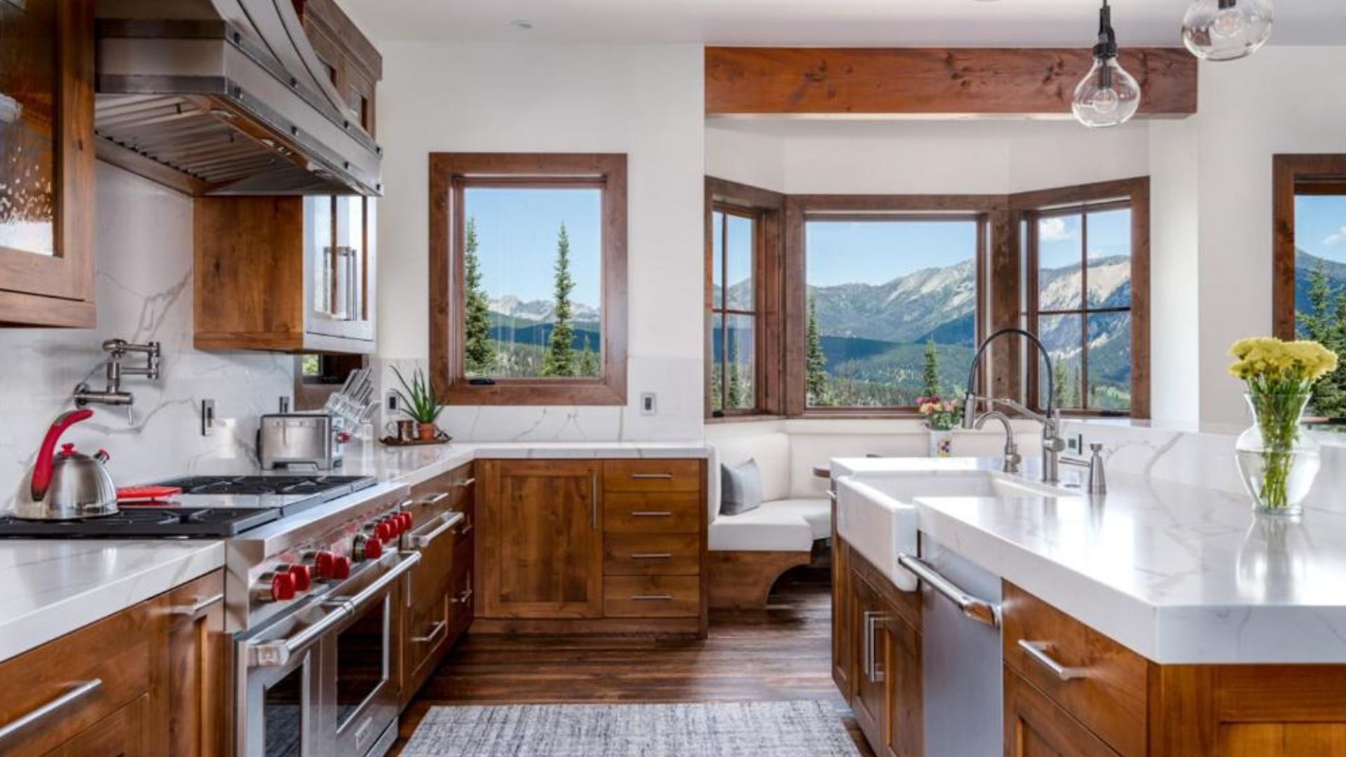
[(482, 461), (487, 632), (705, 633), (705, 463)]

